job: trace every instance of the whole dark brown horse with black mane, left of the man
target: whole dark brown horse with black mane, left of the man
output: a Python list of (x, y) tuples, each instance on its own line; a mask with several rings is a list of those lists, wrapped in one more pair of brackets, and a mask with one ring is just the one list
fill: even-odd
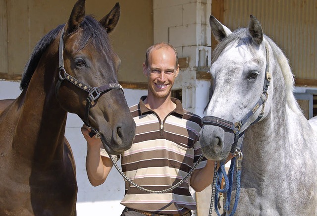
[(119, 13), (117, 3), (98, 22), (85, 16), (85, 0), (78, 0), (67, 23), (36, 45), (21, 95), (2, 103), (8, 107), (0, 114), (1, 216), (76, 215), (67, 112), (99, 132), (110, 154), (131, 147), (135, 123), (117, 84), (120, 59), (108, 38)]

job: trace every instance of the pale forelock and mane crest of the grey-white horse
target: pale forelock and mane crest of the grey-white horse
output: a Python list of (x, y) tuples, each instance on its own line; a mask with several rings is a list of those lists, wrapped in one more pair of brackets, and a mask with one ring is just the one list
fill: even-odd
[[(291, 108), (295, 113), (301, 113), (302, 110), (299, 107), (295, 97), (294, 97), (294, 76), (289, 65), (289, 61), (283, 51), (271, 40), (268, 36), (264, 35), (264, 40), (269, 44), (272, 50), (273, 57), (278, 63), (281, 73), (284, 77), (285, 82), (285, 93), (286, 93), (286, 103), (289, 108)], [(219, 43), (212, 52), (211, 64), (217, 60), (219, 55), (223, 50), (229, 46), (233, 45), (238, 41), (238, 44), (246, 45), (252, 54), (256, 54), (259, 49), (259, 45), (255, 43), (248, 28), (239, 28), (235, 30), (232, 34), (225, 37), (221, 43)]]

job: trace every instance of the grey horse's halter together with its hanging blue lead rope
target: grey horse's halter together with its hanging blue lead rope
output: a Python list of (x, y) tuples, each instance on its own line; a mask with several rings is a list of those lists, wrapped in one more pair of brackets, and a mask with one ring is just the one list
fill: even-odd
[[(245, 130), (253, 125), (254, 123), (258, 122), (264, 115), (264, 107), (265, 107), (265, 102), (268, 97), (267, 89), (269, 86), (269, 83), (271, 81), (271, 74), (269, 73), (269, 52), (268, 52), (268, 47), (265, 44), (265, 52), (266, 52), (266, 67), (265, 67), (265, 77), (264, 77), (264, 86), (263, 86), (263, 91), (261, 93), (259, 101), (253, 106), (253, 108), (240, 120), (235, 123), (231, 121), (224, 120), (222, 118), (218, 118), (216, 116), (211, 116), (211, 115), (206, 115), (202, 119), (202, 124), (203, 125), (214, 125), (218, 127), (225, 127), (228, 128), (232, 133), (235, 134), (234, 142), (231, 146), (231, 151), (230, 153), (234, 153), (236, 155), (235, 158), (231, 159), (231, 165), (228, 171), (228, 176), (225, 172), (224, 168), (224, 162), (220, 162), (220, 167), (217, 170), (216, 169), (216, 163), (214, 167), (214, 176), (213, 176), (213, 182), (212, 182), (212, 191), (211, 191), (211, 206), (209, 209), (209, 215), (211, 216), (212, 213), (212, 206), (214, 202), (214, 207), (215, 211), (218, 216), (220, 216), (216, 201), (217, 201), (217, 196), (220, 193), (227, 193), (226, 196), (226, 204), (224, 206), (225, 210), (229, 210), (230, 206), (230, 197), (231, 197), (231, 191), (232, 191), (232, 181), (233, 181), (233, 170), (234, 170), (234, 165), (236, 167), (236, 194), (235, 194), (235, 202), (232, 208), (232, 211), (229, 216), (233, 216), (234, 213), (236, 212), (237, 206), (238, 206), (238, 201), (239, 201), (239, 195), (240, 195), (240, 177), (241, 177), (241, 167), (242, 167), (242, 152), (240, 150), (240, 146), (237, 148), (238, 141), (240, 137), (243, 137)], [(247, 120), (260, 108), (262, 105), (262, 109), (259, 113), (258, 118), (253, 121), (248, 127), (243, 128), (244, 124), (247, 122)], [(243, 138), (242, 138), (243, 139)], [(241, 141), (242, 144), (242, 141)], [(222, 176), (225, 179), (225, 189), (220, 189), (219, 186), (219, 181), (221, 182)], [(216, 177), (218, 178), (216, 180)]]

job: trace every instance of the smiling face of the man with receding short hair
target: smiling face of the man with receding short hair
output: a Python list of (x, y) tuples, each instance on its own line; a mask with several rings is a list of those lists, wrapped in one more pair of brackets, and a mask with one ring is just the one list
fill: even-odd
[(151, 94), (156, 98), (169, 96), (178, 71), (176, 55), (171, 48), (152, 50), (149, 55), (149, 66), (143, 63), (143, 73), (148, 77), (148, 96)]

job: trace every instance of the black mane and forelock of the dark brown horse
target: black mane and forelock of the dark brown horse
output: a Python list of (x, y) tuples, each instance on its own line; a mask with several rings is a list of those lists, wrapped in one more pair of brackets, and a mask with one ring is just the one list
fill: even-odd
[[(35, 46), (28, 62), (26, 63), (22, 79), (20, 83), (20, 89), (23, 90), (29, 84), (31, 77), (41, 59), (42, 54), (47, 50), (51, 43), (56, 39), (57, 35), (65, 24), (57, 26), (55, 29), (51, 30), (46, 34)], [(93, 46), (98, 53), (109, 53), (112, 52), (110, 49), (110, 42), (106, 29), (91, 15), (85, 16), (80, 27), (76, 30), (82, 29), (82, 35), (80, 38), (79, 49), (81, 50), (85, 47), (88, 41), (91, 39)], [(71, 34), (74, 34), (71, 33)], [(105, 38), (106, 37), (106, 38)]]

